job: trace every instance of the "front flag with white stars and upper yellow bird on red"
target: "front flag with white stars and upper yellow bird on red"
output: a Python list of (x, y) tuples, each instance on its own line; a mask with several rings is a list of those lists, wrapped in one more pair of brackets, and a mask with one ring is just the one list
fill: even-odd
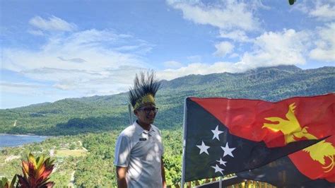
[(317, 143), (330, 134), (306, 134), (315, 123), (331, 129), (334, 105), (328, 100), (334, 94), (280, 102), (187, 98), (184, 180), (259, 168)]

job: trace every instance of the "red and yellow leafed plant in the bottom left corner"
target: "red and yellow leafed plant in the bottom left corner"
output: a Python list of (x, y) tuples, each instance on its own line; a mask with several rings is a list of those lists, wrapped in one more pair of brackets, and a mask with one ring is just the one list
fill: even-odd
[(48, 182), (48, 180), (54, 169), (52, 164), (54, 160), (45, 159), (44, 155), (35, 158), (31, 153), (27, 159), (22, 161), (23, 176), (18, 175), (19, 187), (53, 187), (54, 182)]

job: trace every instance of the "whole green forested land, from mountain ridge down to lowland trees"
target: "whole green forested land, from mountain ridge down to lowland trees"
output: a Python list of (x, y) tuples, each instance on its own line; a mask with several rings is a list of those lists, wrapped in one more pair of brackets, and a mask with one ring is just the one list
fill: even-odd
[[(190, 75), (162, 81), (155, 124), (162, 129), (167, 184), (181, 180), (182, 117), (184, 98), (228, 97), (281, 100), (301, 95), (335, 92), (335, 68), (301, 70), (277, 66), (241, 74)], [(119, 132), (129, 124), (127, 93), (90, 98), (71, 98), (28, 107), (0, 110), (0, 132), (52, 136), (0, 150), (0, 176), (10, 179), (20, 173), (27, 153), (49, 155), (56, 169), (51, 180), (56, 187), (116, 187), (114, 145)], [(74, 135), (75, 134), (75, 135)], [(204, 181), (203, 181), (204, 182)]]

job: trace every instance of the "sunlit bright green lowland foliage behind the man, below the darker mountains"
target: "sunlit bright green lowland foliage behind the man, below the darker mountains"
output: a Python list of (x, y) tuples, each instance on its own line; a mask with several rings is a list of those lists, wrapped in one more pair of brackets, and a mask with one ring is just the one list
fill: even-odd
[[(42, 143), (31, 143), (22, 147), (4, 148), (0, 151), (0, 163), (11, 155), (25, 157), (30, 151), (34, 155), (49, 155), (54, 151), (54, 172), (50, 181), (55, 187), (117, 187), (116, 173), (113, 165), (114, 147), (120, 130), (105, 133), (88, 133), (76, 136), (51, 137)], [(165, 178), (168, 185), (180, 183), (182, 167), (182, 129), (163, 129), (165, 147)], [(82, 145), (81, 145), (82, 143)], [(87, 149), (85, 155), (72, 155), (68, 151)], [(61, 153), (66, 151), (69, 155)], [(13, 177), (20, 172), (20, 159), (7, 161), (0, 168), (0, 175)], [(74, 173), (74, 181), (71, 175)]]

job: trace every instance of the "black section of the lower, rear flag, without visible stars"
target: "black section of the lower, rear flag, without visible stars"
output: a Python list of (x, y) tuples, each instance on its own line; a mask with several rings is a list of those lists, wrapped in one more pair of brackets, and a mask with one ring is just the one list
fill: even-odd
[(302, 175), (288, 156), (275, 160), (261, 168), (238, 172), (236, 175), (246, 180), (268, 182), (276, 187), (335, 187), (335, 183), (327, 180), (310, 180), (310, 178)]

